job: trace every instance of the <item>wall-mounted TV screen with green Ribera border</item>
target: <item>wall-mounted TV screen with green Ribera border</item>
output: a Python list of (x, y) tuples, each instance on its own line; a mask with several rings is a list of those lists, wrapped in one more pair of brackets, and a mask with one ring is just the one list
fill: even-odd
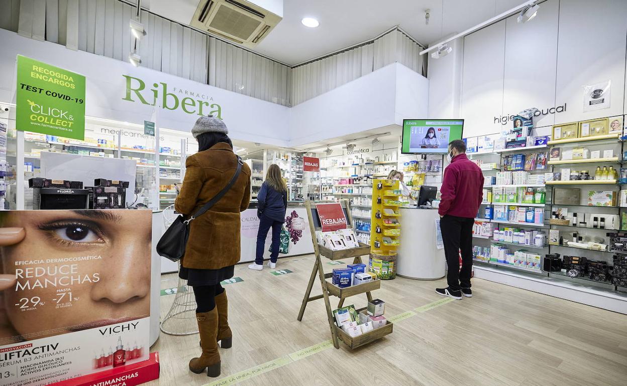
[(446, 154), (448, 143), (461, 140), (463, 119), (403, 119), (403, 154)]

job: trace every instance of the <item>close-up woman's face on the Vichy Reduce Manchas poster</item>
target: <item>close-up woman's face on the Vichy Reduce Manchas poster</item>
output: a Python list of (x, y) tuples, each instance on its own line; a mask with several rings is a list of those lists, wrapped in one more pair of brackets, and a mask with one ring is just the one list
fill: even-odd
[(3, 228), (23, 228), (5, 245), (7, 323), (37, 338), (147, 317), (152, 214), (148, 210), (41, 210), (0, 213)]

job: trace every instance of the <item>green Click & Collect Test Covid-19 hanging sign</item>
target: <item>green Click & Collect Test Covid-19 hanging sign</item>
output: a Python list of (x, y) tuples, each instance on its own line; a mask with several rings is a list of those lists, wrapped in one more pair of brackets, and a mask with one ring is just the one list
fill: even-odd
[(85, 139), (85, 76), (18, 55), (16, 128)]

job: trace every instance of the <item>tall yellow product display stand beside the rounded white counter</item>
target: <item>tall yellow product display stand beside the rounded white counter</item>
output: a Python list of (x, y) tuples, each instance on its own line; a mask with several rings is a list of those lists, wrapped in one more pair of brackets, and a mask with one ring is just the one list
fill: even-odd
[[(389, 262), (391, 268), (371, 269), (382, 280), (396, 277), (396, 248), (400, 245), (401, 223), (398, 208), (401, 191), (398, 180), (374, 180), (372, 182), (372, 213), (370, 245), (371, 258)], [(371, 260), (372, 262), (372, 260)], [(370, 265), (370, 264), (369, 264)], [(373, 267), (371, 267), (373, 268)]]

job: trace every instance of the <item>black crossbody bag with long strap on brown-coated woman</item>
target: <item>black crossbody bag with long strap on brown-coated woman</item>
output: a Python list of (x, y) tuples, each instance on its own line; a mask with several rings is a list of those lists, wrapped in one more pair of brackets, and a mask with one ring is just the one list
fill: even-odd
[(219, 191), (208, 203), (201, 206), (190, 218), (186, 219), (183, 215), (179, 215), (174, 222), (172, 222), (172, 225), (167, 228), (163, 236), (159, 239), (159, 243), (157, 243), (157, 253), (159, 253), (159, 256), (169, 258), (172, 262), (181, 260), (185, 255), (185, 247), (187, 245), (187, 239), (189, 238), (189, 223), (211, 209), (211, 206), (215, 205), (215, 203), (223, 198), (226, 192), (231, 190), (235, 181), (237, 181), (240, 176), (241, 166), (243, 164), (244, 162), (241, 160), (240, 156), (238, 156), (237, 170), (233, 177), (231, 177), (231, 181), (224, 186), (223, 190)]

